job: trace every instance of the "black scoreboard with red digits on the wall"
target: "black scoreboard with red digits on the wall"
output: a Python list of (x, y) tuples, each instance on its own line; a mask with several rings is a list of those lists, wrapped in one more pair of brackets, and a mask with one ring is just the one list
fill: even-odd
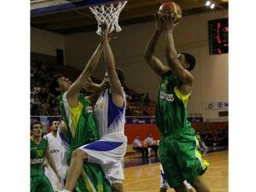
[(229, 53), (229, 18), (208, 20), (210, 55)]

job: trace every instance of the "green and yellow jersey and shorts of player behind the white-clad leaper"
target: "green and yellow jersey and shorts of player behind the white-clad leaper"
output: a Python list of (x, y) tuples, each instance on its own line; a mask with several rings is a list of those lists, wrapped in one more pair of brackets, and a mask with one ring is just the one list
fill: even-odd
[[(67, 102), (67, 92), (58, 98), (61, 108), (61, 115), (67, 125), (67, 163), (69, 165), (72, 152), (87, 143), (95, 142), (99, 139), (96, 123), (93, 116), (93, 108), (90, 100), (79, 94), (79, 106), (70, 108)], [(85, 163), (81, 177), (76, 185), (79, 192), (110, 192), (112, 191), (108, 179), (105, 178), (102, 167), (98, 164)]]

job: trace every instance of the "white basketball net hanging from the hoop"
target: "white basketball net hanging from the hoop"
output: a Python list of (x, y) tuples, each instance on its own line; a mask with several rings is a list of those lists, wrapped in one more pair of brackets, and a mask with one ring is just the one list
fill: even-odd
[(106, 23), (109, 25), (109, 33), (115, 30), (116, 32), (120, 32), (122, 29), (119, 26), (119, 14), (122, 9), (125, 7), (127, 1), (119, 2), (116, 7), (114, 7), (113, 3), (110, 5), (99, 5), (96, 7), (90, 7), (90, 11), (95, 15), (98, 30), (96, 33), (98, 35), (102, 35), (102, 24)]

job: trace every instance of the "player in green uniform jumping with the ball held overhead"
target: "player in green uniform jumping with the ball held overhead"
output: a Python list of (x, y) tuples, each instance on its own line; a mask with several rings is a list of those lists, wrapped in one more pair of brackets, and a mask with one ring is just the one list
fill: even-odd
[[(187, 102), (194, 81), (190, 73), (195, 67), (195, 57), (188, 53), (177, 55), (172, 37), (172, 15), (158, 15), (153, 36), (148, 42), (144, 57), (156, 74), (161, 77), (156, 125), (161, 132), (160, 161), (167, 182), (177, 192), (188, 191), (183, 184), (186, 180), (197, 192), (210, 189), (201, 178), (209, 165), (201, 159), (195, 130), (187, 117)], [(162, 32), (166, 32), (166, 61), (164, 65), (155, 55), (155, 47)]]

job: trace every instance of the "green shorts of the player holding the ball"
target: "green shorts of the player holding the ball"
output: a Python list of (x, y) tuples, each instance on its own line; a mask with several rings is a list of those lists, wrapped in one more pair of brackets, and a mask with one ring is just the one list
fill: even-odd
[(184, 180), (193, 183), (209, 166), (207, 160), (201, 158), (193, 129), (161, 137), (159, 155), (167, 182), (172, 188), (176, 188)]

